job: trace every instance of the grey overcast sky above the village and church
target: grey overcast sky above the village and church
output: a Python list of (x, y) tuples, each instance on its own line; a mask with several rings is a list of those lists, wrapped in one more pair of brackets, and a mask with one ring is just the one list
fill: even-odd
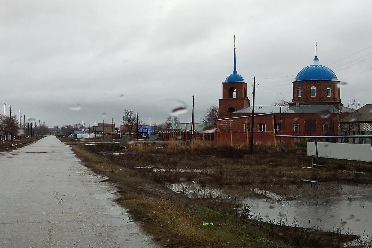
[[(347, 81), (341, 101), (372, 102), (372, 70), (365, 71), (372, 1), (0, 3), (0, 103), (48, 126), (111, 118), (118, 125), (125, 108), (161, 123), (182, 104), (171, 99), (190, 110), (192, 95), (202, 117), (232, 73), (233, 35), (238, 73), (248, 87), (253, 76), (259, 84), (256, 104), (292, 100), (292, 81), (312, 64), (315, 41), (320, 64)], [(180, 118), (190, 121), (191, 111)]]

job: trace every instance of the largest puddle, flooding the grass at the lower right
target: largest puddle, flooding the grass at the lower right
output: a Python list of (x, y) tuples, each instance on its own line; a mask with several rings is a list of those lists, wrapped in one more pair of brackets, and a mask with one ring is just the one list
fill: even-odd
[(359, 236), (372, 233), (372, 190), (369, 188), (342, 186), (342, 192), (349, 195), (319, 204), (309, 204), (261, 189), (253, 191), (270, 199), (229, 196), (221, 189), (201, 187), (195, 182), (167, 184), (167, 187), (189, 198), (240, 200), (242, 204), (252, 206), (252, 213), (260, 213), (263, 222), (286, 223), (289, 226), (344, 234), (352, 232)]

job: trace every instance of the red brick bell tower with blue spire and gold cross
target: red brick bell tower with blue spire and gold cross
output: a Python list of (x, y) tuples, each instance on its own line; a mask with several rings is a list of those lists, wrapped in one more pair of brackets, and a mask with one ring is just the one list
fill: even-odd
[(247, 97), (247, 83), (236, 72), (235, 39), (234, 35), (234, 71), (228, 75), (225, 82), (222, 82), (222, 99), (219, 99), (218, 108), (219, 118), (231, 117), (236, 110), (250, 106)]

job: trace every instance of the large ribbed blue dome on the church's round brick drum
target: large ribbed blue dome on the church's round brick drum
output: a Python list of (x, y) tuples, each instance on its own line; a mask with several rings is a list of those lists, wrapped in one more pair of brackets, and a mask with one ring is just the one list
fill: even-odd
[(307, 80), (338, 80), (334, 72), (324, 66), (319, 65), (319, 59), (314, 58), (314, 65), (308, 65), (303, 68), (296, 76), (295, 81), (307, 81)]

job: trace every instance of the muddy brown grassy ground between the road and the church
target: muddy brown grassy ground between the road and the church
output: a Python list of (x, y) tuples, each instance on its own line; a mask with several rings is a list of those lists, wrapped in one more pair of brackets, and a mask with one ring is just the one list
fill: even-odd
[[(369, 187), (372, 182), (370, 164), (318, 159), (317, 164), (327, 167), (312, 168), (304, 147), (288, 147), (283, 154), (259, 147), (250, 154), (244, 147), (199, 144), (190, 148), (177, 142), (129, 145), (61, 140), (122, 190), (119, 202), (167, 247), (341, 247), (356, 237), (285, 226), (288, 223), (262, 223), (249, 206), (237, 206), (223, 197), (184, 196), (165, 184), (197, 181), (229, 195), (267, 197), (253, 190), (259, 188), (316, 204), (343, 194), (340, 184)], [(323, 188), (316, 182), (334, 187)], [(205, 221), (215, 226), (203, 227)]]

